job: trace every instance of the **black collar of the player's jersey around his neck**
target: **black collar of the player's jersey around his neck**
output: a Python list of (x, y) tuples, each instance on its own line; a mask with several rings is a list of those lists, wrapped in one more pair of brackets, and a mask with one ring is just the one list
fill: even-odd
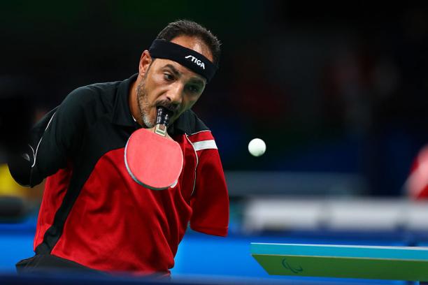
[[(131, 110), (129, 109), (129, 90), (131, 89), (132, 83), (138, 77), (138, 73), (132, 75), (130, 78), (120, 82), (119, 87), (117, 87), (117, 94), (115, 98), (115, 103), (113, 106), (113, 124), (119, 126), (129, 126), (136, 127), (137, 129), (141, 126), (134, 121), (134, 118), (131, 115)], [(170, 135), (176, 135), (178, 133), (191, 133), (191, 122), (194, 115), (191, 110), (184, 112), (176, 122), (174, 122), (168, 128), (168, 133)]]

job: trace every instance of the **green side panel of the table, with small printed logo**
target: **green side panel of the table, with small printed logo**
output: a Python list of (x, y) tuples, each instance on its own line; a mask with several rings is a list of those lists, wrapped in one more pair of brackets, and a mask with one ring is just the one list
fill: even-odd
[(252, 254), (269, 275), (428, 281), (428, 262)]

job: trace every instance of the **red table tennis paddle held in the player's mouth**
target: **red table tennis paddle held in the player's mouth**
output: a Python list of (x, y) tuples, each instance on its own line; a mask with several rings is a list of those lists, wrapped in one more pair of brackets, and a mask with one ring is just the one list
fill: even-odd
[(183, 168), (183, 152), (178, 142), (167, 138), (171, 113), (157, 108), (155, 132), (138, 129), (131, 134), (124, 150), (129, 175), (143, 187), (163, 190), (175, 187)]

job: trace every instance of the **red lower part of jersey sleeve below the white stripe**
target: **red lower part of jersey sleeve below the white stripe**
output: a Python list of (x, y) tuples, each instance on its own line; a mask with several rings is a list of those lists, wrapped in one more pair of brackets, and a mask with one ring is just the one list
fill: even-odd
[(229, 196), (218, 150), (197, 150), (197, 182), (190, 200), (190, 228), (208, 235), (226, 236), (229, 224)]

